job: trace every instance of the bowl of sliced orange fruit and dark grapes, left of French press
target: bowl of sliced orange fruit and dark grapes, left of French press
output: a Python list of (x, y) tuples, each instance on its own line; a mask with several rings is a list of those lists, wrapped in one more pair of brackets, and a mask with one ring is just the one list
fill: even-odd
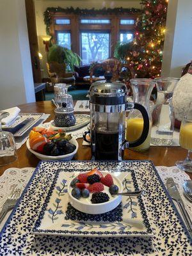
[(70, 161), (78, 150), (78, 143), (71, 134), (51, 128), (33, 127), (26, 142), (28, 150), (41, 160)]

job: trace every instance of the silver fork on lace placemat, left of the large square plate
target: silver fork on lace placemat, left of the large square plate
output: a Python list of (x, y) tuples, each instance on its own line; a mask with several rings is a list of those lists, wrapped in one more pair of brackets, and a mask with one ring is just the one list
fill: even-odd
[(20, 192), (21, 189), (15, 189), (13, 188), (12, 193), (8, 196), (7, 200), (4, 202), (2, 211), (0, 213), (0, 224), (4, 219), (4, 216), (6, 215), (6, 213), (12, 209), (15, 204), (17, 203), (17, 200), (20, 197)]

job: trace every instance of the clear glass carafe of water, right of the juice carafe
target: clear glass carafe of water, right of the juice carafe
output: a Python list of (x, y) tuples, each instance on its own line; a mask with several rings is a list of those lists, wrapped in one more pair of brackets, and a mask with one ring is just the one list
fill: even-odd
[(179, 78), (158, 77), (154, 79), (157, 86), (157, 101), (152, 113), (153, 127), (151, 142), (154, 145), (168, 146), (173, 143), (175, 115), (172, 106), (173, 90)]

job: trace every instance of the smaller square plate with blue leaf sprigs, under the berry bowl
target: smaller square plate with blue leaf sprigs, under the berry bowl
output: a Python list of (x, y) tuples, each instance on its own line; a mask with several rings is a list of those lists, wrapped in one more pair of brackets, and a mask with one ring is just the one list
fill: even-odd
[[(85, 214), (74, 209), (68, 203), (68, 180), (81, 172), (78, 169), (56, 171), (33, 232), (63, 236), (152, 236), (142, 196), (122, 196), (122, 203), (104, 214)], [(109, 172), (106, 170), (106, 174)], [(122, 181), (124, 192), (138, 190), (134, 170), (124, 169), (113, 175)]]

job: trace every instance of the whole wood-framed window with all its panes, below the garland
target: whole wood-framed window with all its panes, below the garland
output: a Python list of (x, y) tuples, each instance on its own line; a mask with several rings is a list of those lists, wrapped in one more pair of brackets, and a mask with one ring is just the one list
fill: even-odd
[(137, 15), (82, 15), (51, 13), (52, 43), (67, 47), (81, 56), (81, 64), (106, 60), (114, 55), (117, 42), (134, 38)]

